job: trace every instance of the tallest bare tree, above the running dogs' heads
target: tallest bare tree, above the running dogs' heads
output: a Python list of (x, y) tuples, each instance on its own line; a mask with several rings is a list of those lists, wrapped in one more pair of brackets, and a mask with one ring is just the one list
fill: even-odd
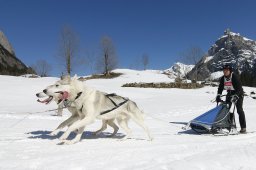
[(64, 63), (65, 71), (70, 75), (75, 59), (78, 59), (79, 38), (70, 28), (63, 27), (60, 34), (59, 57)]

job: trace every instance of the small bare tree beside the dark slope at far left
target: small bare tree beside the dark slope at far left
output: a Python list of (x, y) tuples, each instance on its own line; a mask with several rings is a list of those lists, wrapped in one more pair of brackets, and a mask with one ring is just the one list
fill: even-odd
[(41, 77), (49, 76), (49, 72), (52, 69), (51, 65), (45, 60), (38, 60), (31, 67), (35, 70), (36, 74)]

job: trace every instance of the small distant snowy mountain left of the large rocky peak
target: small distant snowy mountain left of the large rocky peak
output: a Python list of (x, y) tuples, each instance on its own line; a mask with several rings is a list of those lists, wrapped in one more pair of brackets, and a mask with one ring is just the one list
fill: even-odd
[(163, 73), (167, 74), (170, 78), (186, 77), (193, 67), (194, 65), (177, 62), (171, 68), (164, 70)]

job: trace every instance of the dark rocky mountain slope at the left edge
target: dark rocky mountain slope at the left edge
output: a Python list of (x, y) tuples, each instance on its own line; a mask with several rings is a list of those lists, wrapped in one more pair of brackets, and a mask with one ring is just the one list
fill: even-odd
[(34, 71), (16, 57), (11, 44), (0, 31), (0, 74), (17, 76), (27, 73)]

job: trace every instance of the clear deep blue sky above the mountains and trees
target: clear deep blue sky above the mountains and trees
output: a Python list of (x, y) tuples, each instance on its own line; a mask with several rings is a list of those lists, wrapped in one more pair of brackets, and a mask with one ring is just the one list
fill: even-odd
[[(63, 72), (60, 33), (70, 27), (79, 37), (79, 56), (100, 55), (100, 39), (112, 39), (119, 68), (163, 70), (180, 54), (200, 47), (207, 52), (225, 29), (256, 40), (254, 0), (0, 0), (0, 30), (16, 56), (31, 66), (46, 60), (51, 75)], [(76, 64), (73, 73), (95, 72)]]

